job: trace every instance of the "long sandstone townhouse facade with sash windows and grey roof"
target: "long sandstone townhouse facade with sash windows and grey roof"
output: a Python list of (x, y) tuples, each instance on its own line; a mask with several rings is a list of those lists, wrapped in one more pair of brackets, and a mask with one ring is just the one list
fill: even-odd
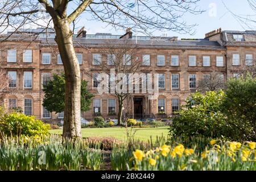
[[(40, 32), (40, 34), (39, 34)], [(1, 47), (0, 66), (11, 77), (9, 88), (14, 92), (6, 94), (3, 104), (6, 108), (22, 107), (24, 114), (37, 115), (42, 119), (62, 118), (63, 113), (49, 113), (42, 106), (42, 86), (52, 73), (63, 72), (60, 55), (54, 42), (54, 32), (40, 28), (21, 30)], [(10, 34), (10, 32), (9, 32)], [(31, 36), (32, 35), (32, 36)], [(79, 59), (81, 77), (88, 81), (88, 87), (95, 94), (91, 110), (85, 118), (100, 112), (107, 115), (117, 113), (118, 100), (113, 94), (98, 94), (94, 88), (93, 73), (100, 72), (94, 64), (97, 59), (107, 64), (100, 55), (106, 40), (119, 42), (128, 39), (136, 44), (142, 59), (147, 59), (150, 73), (159, 73), (159, 96), (149, 99), (150, 94), (130, 94), (125, 104), (125, 114), (151, 116), (164, 111), (171, 115), (180, 109), (191, 92), (195, 92), (198, 81), (204, 75), (217, 71), (224, 81), (236, 76), (243, 65), (250, 66), (256, 57), (256, 31), (222, 31), (221, 28), (205, 34), (204, 39), (177, 40), (176, 37), (150, 38), (133, 36), (131, 30), (125, 35), (86, 35), (83, 29), (74, 38), (75, 51)], [(135, 40), (137, 39), (137, 40)]]

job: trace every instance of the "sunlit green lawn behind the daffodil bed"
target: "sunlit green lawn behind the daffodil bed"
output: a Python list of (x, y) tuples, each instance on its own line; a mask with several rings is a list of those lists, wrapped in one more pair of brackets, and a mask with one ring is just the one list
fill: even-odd
[[(168, 134), (168, 127), (154, 127), (154, 128), (135, 128), (135, 138), (147, 141), (152, 136), (152, 140), (156, 136), (162, 135), (166, 138)], [(130, 128), (129, 128), (130, 131)], [(62, 130), (51, 130), (52, 134), (62, 134)], [(85, 128), (82, 129), (82, 137), (115, 137), (117, 139), (127, 139), (126, 130), (124, 127), (106, 127), (106, 128)]]

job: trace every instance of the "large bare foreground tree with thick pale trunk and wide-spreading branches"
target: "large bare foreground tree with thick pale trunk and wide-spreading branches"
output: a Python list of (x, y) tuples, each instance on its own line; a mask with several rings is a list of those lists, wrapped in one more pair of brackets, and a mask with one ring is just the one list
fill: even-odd
[[(134, 27), (141, 32), (155, 30), (191, 33), (196, 24), (187, 24), (183, 15), (200, 14), (200, 0), (137, 0), (137, 9), (127, 7), (128, 0), (3, 0), (0, 2), (1, 32), (12, 27), (14, 33), (28, 24), (53, 23), (66, 76), (63, 137), (81, 137), (80, 68), (73, 47), (73, 22), (82, 14), (113, 27)], [(39, 6), (42, 7), (39, 8)], [(139, 9), (139, 11), (138, 11)], [(72, 11), (69, 13), (69, 11)], [(130, 26), (133, 25), (133, 26)], [(12, 34), (2, 38), (7, 40)]]

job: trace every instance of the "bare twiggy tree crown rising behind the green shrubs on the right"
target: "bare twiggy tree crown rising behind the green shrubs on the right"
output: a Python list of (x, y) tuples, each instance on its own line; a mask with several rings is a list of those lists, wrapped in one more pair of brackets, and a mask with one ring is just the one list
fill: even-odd
[(203, 75), (203, 78), (199, 80), (197, 90), (201, 92), (214, 91), (223, 89), (224, 86), (224, 75), (220, 72), (213, 71), (209, 74)]

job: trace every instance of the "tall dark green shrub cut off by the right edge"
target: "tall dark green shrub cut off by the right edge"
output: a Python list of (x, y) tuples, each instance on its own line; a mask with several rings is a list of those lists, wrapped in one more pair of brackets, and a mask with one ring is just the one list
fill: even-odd
[(256, 140), (256, 77), (232, 78), (227, 82), (222, 111), (233, 127), (232, 139)]

